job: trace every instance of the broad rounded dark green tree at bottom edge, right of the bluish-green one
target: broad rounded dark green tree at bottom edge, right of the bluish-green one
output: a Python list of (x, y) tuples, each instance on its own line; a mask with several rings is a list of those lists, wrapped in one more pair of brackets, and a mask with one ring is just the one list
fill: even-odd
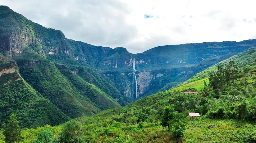
[(60, 134), (61, 143), (80, 143), (81, 140), (81, 125), (75, 121), (71, 120), (67, 122), (62, 129)]

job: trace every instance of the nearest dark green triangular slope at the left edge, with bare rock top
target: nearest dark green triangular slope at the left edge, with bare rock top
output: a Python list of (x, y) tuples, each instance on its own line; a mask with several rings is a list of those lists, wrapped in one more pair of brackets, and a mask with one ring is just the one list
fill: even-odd
[[(12, 64), (13, 63), (13, 64)], [(0, 55), (1, 124), (16, 114), (22, 127), (56, 125), (70, 120), (20, 76), (16, 61)]]

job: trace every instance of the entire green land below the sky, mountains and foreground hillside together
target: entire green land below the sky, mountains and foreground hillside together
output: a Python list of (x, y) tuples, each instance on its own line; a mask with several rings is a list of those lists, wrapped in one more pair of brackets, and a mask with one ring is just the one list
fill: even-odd
[(0, 6), (0, 143), (10, 123), (21, 143), (254, 143), (255, 59), (256, 40), (132, 54)]

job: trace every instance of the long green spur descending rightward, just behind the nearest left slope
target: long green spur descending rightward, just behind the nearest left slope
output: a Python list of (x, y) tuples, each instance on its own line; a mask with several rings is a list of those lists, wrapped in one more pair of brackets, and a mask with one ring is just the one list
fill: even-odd
[(25, 48), (23, 53), (14, 59), (20, 67), (21, 76), (66, 115), (75, 118), (100, 111), (88, 98), (80, 95), (49, 60), (29, 48)]

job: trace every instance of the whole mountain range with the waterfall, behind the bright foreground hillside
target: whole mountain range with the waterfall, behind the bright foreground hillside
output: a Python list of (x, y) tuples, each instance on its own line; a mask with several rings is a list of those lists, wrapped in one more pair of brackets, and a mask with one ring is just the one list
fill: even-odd
[(94, 115), (136, 100), (136, 91), (141, 98), (171, 89), (255, 47), (256, 40), (205, 42), (131, 54), (66, 39), (0, 6), (0, 121), (15, 113), (23, 127), (34, 127)]

